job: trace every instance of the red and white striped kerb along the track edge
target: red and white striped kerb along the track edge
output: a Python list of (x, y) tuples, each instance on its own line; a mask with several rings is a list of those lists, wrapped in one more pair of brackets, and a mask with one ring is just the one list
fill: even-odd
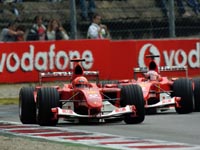
[(45, 139), (55, 142), (84, 144), (88, 146), (123, 149), (123, 150), (198, 150), (199, 145), (168, 142), (161, 140), (123, 137), (119, 135), (94, 133), (83, 130), (69, 130), (61, 127), (42, 127), (38, 125), (22, 125), (17, 122), (0, 121), (0, 133), (15, 136)]

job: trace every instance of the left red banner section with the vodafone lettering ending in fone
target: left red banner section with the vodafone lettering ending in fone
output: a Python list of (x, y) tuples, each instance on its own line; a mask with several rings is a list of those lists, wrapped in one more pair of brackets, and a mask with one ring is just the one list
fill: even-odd
[(84, 69), (107, 74), (109, 49), (108, 40), (0, 43), (0, 82), (36, 82), (39, 71), (69, 71), (74, 57), (86, 59)]

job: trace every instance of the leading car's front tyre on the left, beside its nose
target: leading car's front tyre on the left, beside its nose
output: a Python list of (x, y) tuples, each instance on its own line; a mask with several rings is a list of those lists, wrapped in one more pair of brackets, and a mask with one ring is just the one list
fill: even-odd
[(58, 118), (53, 119), (51, 108), (59, 107), (59, 93), (55, 88), (45, 87), (37, 93), (37, 121), (41, 126), (55, 126)]

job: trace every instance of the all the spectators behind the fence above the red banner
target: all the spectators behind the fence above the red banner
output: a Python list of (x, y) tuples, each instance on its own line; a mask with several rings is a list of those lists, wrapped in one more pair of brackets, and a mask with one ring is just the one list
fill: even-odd
[[(62, 0), (47, 0), (49, 2), (61, 2)], [(169, 17), (169, 0), (156, 0), (165, 17)], [(23, 0), (1, 0), (5, 3), (24, 2)], [(80, 6), (80, 16), (82, 21), (91, 21), (88, 26), (88, 39), (104, 39), (110, 38), (108, 27), (101, 23), (102, 16), (96, 13), (95, 0), (77, 0)], [(175, 6), (180, 16), (190, 17), (191, 14), (185, 9), (185, 4), (190, 6), (196, 15), (200, 12), (200, 4), (198, 0), (174, 0)], [(20, 14), (17, 8), (13, 8), (16, 20), (19, 21)], [(28, 31), (28, 32), (26, 32)], [(48, 25), (43, 23), (43, 17), (38, 15), (34, 18), (33, 25), (30, 29), (25, 29), (16, 22), (9, 22), (8, 25), (1, 30), (1, 41), (34, 41), (34, 40), (69, 40), (67, 31), (62, 27), (61, 22), (53, 18), (49, 20)]]

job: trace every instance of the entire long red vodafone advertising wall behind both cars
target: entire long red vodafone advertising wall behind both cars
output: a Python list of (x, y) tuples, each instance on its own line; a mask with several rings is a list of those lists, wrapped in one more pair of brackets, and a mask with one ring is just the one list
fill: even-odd
[(190, 77), (200, 74), (199, 39), (13, 42), (0, 43), (0, 83), (37, 82), (39, 71), (69, 71), (74, 57), (84, 58), (83, 68), (99, 71), (101, 80), (133, 78), (134, 67), (148, 65), (148, 54), (160, 55), (160, 66), (188, 66)]

